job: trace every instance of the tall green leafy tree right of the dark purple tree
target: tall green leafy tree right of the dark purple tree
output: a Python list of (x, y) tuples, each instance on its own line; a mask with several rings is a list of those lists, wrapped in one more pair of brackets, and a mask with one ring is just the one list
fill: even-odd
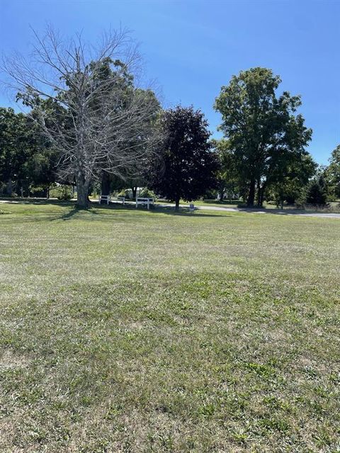
[(300, 96), (284, 91), (276, 96), (280, 77), (256, 67), (233, 76), (222, 86), (215, 109), (222, 114), (220, 130), (228, 139), (240, 185), (247, 188), (247, 205), (262, 205), (269, 185), (285, 178), (286, 169), (307, 154), (312, 130), (296, 110)]

